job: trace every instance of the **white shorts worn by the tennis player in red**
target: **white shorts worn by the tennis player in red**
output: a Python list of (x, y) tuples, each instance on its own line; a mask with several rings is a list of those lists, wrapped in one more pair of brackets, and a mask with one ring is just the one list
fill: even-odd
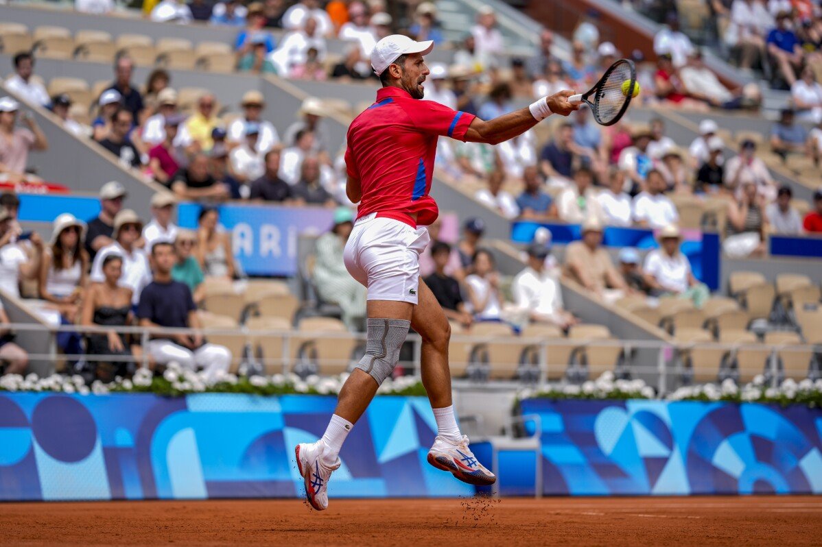
[(345, 268), (368, 289), (368, 300), (417, 304), (419, 254), (430, 237), (417, 229), (376, 213), (358, 218), (345, 244)]

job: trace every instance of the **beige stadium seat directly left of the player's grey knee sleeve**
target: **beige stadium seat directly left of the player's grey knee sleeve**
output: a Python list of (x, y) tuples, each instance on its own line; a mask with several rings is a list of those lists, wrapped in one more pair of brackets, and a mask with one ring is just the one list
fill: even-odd
[(297, 360), (302, 352), (316, 362), (321, 375), (335, 375), (348, 370), (354, 347), (357, 347), (357, 339), (339, 319), (306, 317), (300, 321), (298, 333), (292, 338), (291, 356)]

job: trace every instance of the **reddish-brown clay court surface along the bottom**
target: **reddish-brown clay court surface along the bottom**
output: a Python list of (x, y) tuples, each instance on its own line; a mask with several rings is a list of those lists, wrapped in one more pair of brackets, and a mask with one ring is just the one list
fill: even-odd
[(0, 503), (0, 545), (820, 545), (822, 498)]

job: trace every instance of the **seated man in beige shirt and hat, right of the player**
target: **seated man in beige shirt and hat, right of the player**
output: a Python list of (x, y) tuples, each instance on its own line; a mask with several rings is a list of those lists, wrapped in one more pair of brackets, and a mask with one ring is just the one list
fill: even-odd
[(582, 240), (566, 248), (566, 276), (593, 295), (612, 303), (625, 295), (626, 284), (603, 247), (603, 225), (595, 218), (582, 224)]

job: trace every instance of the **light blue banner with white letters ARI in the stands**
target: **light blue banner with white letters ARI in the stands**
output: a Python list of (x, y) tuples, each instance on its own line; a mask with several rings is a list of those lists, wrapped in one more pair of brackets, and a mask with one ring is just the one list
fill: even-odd
[[(201, 205), (178, 207), (178, 224), (197, 227)], [(301, 234), (328, 232), (333, 209), (275, 205), (220, 205), (219, 223), (232, 231), (234, 258), (249, 275), (298, 273), (297, 241)]]

